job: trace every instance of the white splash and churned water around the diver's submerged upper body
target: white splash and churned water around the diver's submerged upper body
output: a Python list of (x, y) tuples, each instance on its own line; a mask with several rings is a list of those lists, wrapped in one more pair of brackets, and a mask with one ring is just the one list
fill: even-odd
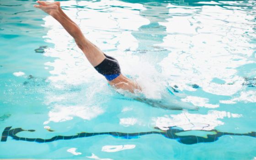
[[(182, 94), (172, 91), (167, 81), (170, 78), (156, 70), (155, 65), (142, 60), (138, 55), (124, 55), (119, 58), (122, 72), (135, 80), (141, 87), (141, 91), (135, 90), (135, 94), (118, 90), (119, 93), (134, 100), (139, 100), (153, 107), (168, 110), (197, 110), (197, 107), (181, 101)], [(132, 62), (132, 63), (131, 63)]]

